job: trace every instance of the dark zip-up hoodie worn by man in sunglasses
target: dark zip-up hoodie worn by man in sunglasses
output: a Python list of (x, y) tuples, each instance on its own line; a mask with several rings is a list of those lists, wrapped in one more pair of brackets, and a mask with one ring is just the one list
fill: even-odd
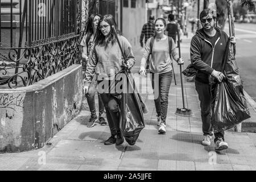
[(228, 43), (228, 35), (215, 27), (216, 34), (219, 38), (212, 45), (206, 38), (203, 28), (196, 31), (196, 35), (191, 40), (191, 63), (198, 70), (196, 81), (208, 83), (209, 75), (213, 69), (221, 71), (221, 63), (223, 60), (226, 44)]

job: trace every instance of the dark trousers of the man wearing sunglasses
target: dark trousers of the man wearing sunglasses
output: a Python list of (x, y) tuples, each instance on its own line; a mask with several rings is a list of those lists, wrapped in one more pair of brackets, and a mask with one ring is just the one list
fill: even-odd
[[(203, 122), (203, 133), (204, 135), (212, 136), (212, 100), (213, 100), (213, 90), (216, 84), (212, 85), (195, 81), (196, 91), (199, 95), (200, 107), (201, 107), (201, 119)], [(211, 89), (212, 88), (212, 89)], [(214, 133), (214, 142), (218, 137), (224, 140), (224, 131)]]

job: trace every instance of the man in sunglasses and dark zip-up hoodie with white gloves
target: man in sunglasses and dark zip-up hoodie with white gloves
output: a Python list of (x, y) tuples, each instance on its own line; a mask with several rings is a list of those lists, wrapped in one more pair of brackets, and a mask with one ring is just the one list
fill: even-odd
[[(213, 135), (211, 103), (213, 90), (216, 88), (216, 82), (210, 80), (215, 78), (221, 82), (225, 78), (220, 70), (229, 37), (220, 28), (215, 27), (216, 11), (204, 9), (200, 13), (200, 21), (202, 28), (197, 30), (196, 35), (191, 40), (191, 63), (197, 69), (195, 86), (199, 94), (203, 122), (204, 138), (202, 144), (210, 146)], [(235, 44), (236, 39), (231, 37), (231, 42)], [(228, 148), (228, 143), (224, 142), (224, 131), (214, 133), (214, 143), (217, 151)]]

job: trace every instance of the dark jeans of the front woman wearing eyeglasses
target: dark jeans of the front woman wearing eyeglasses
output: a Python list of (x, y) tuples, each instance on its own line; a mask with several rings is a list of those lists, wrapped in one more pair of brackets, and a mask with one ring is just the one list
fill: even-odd
[[(104, 80), (104, 82), (105, 81), (109, 82), (110, 84), (110, 81)], [(103, 87), (105, 84), (102, 84), (103, 81), (98, 81), (98, 85), (100, 82), (102, 89), (104, 90)], [(119, 126), (120, 101), (109, 93), (101, 93), (100, 95), (106, 109), (106, 118), (108, 119), (110, 133), (113, 136), (117, 135), (117, 133), (121, 133)]]

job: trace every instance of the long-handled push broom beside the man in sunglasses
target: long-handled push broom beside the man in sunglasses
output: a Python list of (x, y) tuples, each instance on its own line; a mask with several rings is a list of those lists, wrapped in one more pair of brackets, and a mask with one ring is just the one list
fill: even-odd
[[(178, 47), (179, 47), (179, 57), (181, 57), (181, 53), (180, 53), (180, 34), (179, 34), (179, 31), (177, 31), (177, 38), (178, 38), (177, 43), (178, 43)], [(176, 115), (180, 115), (180, 116), (184, 116), (184, 117), (191, 117), (192, 116), (191, 109), (185, 108), (181, 64), (180, 64), (180, 82), (181, 82), (183, 108), (177, 107), (177, 110), (176, 110), (175, 114)]]

